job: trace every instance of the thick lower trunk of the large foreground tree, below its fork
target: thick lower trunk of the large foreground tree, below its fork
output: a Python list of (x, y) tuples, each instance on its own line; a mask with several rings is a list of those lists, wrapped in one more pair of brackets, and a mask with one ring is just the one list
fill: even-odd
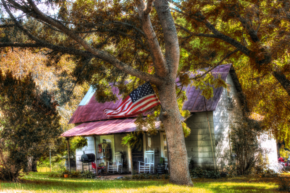
[(175, 82), (167, 82), (158, 87), (163, 111), (160, 119), (164, 125), (169, 154), (170, 181), (176, 184), (193, 185), (188, 164), (184, 134), (178, 109)]

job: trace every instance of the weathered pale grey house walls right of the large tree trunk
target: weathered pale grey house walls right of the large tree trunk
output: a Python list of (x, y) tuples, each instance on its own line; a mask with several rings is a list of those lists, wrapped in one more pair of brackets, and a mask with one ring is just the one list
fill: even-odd
[(241, 113), (241, 104), (230, 74), (226, 83), (231, 84), (233, 108), (227, 108), (226, 91), (223, 89), (215, 110), (207, 112), (211, 135), (206, 112), (194, 112), (185, 120), (191, 130), (185, 138), (187, 156), (191, 157), (195, 167), (214, 169), (215, 162), (216, 168), (222, 170), (231, 160), (229, 128), (231, 121)]

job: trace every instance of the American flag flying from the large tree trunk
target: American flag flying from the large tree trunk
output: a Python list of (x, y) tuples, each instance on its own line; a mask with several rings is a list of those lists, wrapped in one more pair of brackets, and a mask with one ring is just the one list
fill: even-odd
[(115, 109), (104, 109), (108, 117), (122, 118), (140, 114), (160, 104), (153, 88), (146, 82), (134, 89)]

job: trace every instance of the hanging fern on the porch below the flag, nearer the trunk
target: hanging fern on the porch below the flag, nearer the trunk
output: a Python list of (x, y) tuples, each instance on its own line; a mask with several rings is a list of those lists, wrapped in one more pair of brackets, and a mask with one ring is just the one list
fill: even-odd
[(143, 132), (141, 131), (131, 132), (130, 134), (127, 134), (126, 136), (122, 138), (121, 144), (128, 145), (131, 148), (136, 148), (138, 150), (141, 150), (142, 144), (143, 144), (142, 135), (143, 135)]

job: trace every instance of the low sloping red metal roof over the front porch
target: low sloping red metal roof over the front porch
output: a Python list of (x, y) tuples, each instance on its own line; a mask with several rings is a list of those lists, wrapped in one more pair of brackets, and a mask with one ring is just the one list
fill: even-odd
[[(107, 119), (99, 121), (83, 122), (70, 130), (62, 133), (61, 136), (89, 136), (89, 135), (102, 135), (102, 134), (113, 134), (132, 132), (137, 129), (134, 123), (134, 118), (118, 118), (118, 119)], [(155, 127), (160, 128), (160, 121), (155, 122)], [(147, 130), (148, 128), (143, 128)]]

